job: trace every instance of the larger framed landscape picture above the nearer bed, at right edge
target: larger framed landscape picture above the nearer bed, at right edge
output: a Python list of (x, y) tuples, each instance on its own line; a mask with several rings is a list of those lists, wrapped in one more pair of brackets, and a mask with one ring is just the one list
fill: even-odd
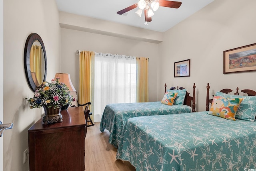
[(256, 43), (223, 51), (223, 74), (256, 71)]

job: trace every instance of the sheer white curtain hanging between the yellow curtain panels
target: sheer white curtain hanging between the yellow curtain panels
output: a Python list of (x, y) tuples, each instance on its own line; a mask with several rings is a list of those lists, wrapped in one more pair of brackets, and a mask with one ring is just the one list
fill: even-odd
[(95, 53), (94, 122), (107, 104), (136, 101), (136, 57)]

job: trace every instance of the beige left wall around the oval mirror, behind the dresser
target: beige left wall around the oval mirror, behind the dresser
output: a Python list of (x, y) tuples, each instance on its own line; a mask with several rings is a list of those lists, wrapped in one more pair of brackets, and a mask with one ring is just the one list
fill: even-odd
[(30, 33), (38, 33), (45, 45), (47, 81), (60, 69), (60, 26), (54, 0), (4, 1), (4, 122), (14, 123), (4, 132), (4, 171), (28, 171), (23, 151), (28, 148), (28, 128), (41, 117), (30, 109), (26, 97), (33, 95), (24, 73), (24, 46)]

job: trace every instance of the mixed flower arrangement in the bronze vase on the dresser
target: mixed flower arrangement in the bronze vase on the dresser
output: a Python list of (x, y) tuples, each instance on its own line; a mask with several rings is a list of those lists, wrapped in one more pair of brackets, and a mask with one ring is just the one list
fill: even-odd
[(52, 82), (44, 82), (35, 91), (32, 98), (27, 98), (30, 102), (30, 108), (60, 108), (67, 104), (71, 104), (74, 100), (68, 91), (68, 86), (59, 82), (60, 78), (52, 79)]

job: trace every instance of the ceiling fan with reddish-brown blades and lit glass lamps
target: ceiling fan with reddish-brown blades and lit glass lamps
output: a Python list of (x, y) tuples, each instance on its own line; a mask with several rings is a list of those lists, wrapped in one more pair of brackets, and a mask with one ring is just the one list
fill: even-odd
[(138, 7), (139, 9), (136, 11), (136, 14), (141, 17), (142, 10), (144, 10), (145, 25), (148, 25), (148, 22), (152, 21), (151, 17), (154, 15), (153, 11), (158, 10), (159, 6), (164, 6), (169, 8), (180, 8), (180, 5), (181, 5), (181, 2), (169, 1), (169, 0), (139, 0), (138, 3), (118, 11), (117, 14), (122, 15)]

